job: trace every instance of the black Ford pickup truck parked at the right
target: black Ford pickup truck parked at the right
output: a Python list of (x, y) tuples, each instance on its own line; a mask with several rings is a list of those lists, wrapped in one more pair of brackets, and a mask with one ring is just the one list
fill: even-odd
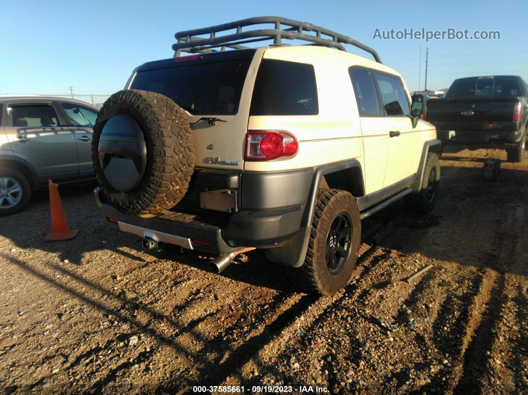
[(528, 85), (516, 75), (455, 80), (445, 99), (427, 103), (426, 120), (442, 146), (505, 148), (508, 161), (521, 162), (528, 121)]

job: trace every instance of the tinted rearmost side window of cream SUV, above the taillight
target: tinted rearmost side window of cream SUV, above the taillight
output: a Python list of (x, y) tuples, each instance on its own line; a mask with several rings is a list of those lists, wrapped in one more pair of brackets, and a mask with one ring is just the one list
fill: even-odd
[(319, 112), (314, 66), (263, 59), (250, 115), (316, 115)]

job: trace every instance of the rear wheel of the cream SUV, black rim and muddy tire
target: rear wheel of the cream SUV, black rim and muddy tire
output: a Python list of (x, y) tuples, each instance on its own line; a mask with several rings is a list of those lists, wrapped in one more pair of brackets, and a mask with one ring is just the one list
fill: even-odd
[(291, 280), (321, 295), (341, 290), (354, 270), (360, 240), (356, 199), (347, 191), (320, 190), (305, 262), (301, 267), (288, 268)]

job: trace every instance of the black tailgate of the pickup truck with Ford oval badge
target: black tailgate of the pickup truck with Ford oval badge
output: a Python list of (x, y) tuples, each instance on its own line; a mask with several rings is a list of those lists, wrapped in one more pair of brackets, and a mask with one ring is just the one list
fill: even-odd
[(426, 120), (438, 130), (516, 130), (513, 114), (517, 103), (518, 98), (429, 100)]

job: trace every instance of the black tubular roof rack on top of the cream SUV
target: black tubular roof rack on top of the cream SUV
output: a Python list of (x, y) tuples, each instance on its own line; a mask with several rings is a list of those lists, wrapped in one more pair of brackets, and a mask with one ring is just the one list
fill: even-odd
[[(259, 24), (275, 24), (275, 28), (242, 31), (242, 27)], [(290, 27), (281, 28), (280, 25)], [(233, 29), (236, 29), (237, 32), (218, 37), (216, 36), (216, 33)], [(304, 34), (303, 31), (315, 32), (316, 34)], [(195, 37), (204, 34), (209, 34), (209, 38)], [(322, 35), (328, 36), (329, 38), (323, 38)], [(175, 51), (175, 57), (180, 56), (182, 51), (189, 53), (208, 53), (218, 51), (213, 50), (213, 48), (218, 47), (220, 47), (220, 51), (224, 51), (225, 48), (244, 49), (248, 47), (241, 44), (270, 39), (274, 40), (272, 45), (287, 45), (282, 43), (282, 38), (288, 38), (290, 40), (308, 41), (312, 43), (312, 45), (328, 46), (342, 51), (346, 51), (343, 45), (341, 45), (342, 43), (352, 44), (369, 52), (374, 56), (376, 62), (381, 63), (378, 53), (371, 47), (366, 46), (359, 41), (355, 41), (348, 36), (325, 29), (324, 27), (315, 26), (307, 22), (294, 21), (280, 16), (257, 16), (240, 21), (223, 23), (221, 25), (186, 30), (176, 33), (174, 37), (176, 37), (177, 40), (177, 43), (172, 46), (172, 49)]]

